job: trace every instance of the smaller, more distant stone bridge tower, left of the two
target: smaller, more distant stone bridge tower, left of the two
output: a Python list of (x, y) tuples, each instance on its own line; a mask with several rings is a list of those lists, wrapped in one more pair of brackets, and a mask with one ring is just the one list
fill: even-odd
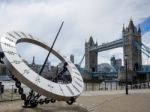
[(88, 42), (85, 42), (85, 69), (88, 71), (97, 71), (97, 55), (96, 51), (89, 51), (93, 47), (97, 47), (97, 42), (94, 43), (92, 36)]

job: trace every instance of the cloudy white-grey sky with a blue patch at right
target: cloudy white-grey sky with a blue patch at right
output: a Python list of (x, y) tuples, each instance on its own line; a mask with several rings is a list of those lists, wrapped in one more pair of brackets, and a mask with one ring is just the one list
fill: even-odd
[[(68, 57), (74, 54), (75, 63), (84, 55), (84, 43), (90, 36), (99, 45), (119, 39), (123, 24), (127, 26), (131, 18), (137, 26), (150, 26), (150, 22), (145, 23), (150, 21), (149, 0), (0, 0), (0, 34), (23, 31), (51, 45), (64, 21), (55, 48)], [(144, 32), (145, 26), (142, 27)], [(150, 47), (149, 40), (148, 29), (142, 41)], [(29, 44), (18, 46), (19, 53), (27, 61), (31, 62), (36, 56), (36, 63), (43, 63), (46, 51)], [(109, 63), (112, 56), (122, 58), (122, 48), (99, 53), (99, 63)], [(143, 58), (143, 63), (147, 64), (148, 58)]]

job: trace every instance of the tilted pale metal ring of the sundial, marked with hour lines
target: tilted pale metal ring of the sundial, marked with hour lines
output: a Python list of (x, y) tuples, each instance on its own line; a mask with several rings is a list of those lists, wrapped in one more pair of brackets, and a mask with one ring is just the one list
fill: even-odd
[[(67, 62), (67, 69), (71, 75), (72, 81), (68, 84), (55, 83), (47, 80), (35, 73), (19, 56), (16, 44), (21, 42), (32, 43), (49, 51), (47, 43), (40, 41), (35, 36), (23, 32), (8, 32), (1, 36), (0, 47), (4, 52), (4, 63), (11, 73), (29, 88), (38, 92), (40, 95), (56, 100), (67, 101), (71, 97), (77, 98), (83, 91), (83, 79), (75, 65), (69, 61), (58, 50), (52, 49), (54, 54), (62, 62)], [(30, 55), (30, 54), (29, 54)]]

